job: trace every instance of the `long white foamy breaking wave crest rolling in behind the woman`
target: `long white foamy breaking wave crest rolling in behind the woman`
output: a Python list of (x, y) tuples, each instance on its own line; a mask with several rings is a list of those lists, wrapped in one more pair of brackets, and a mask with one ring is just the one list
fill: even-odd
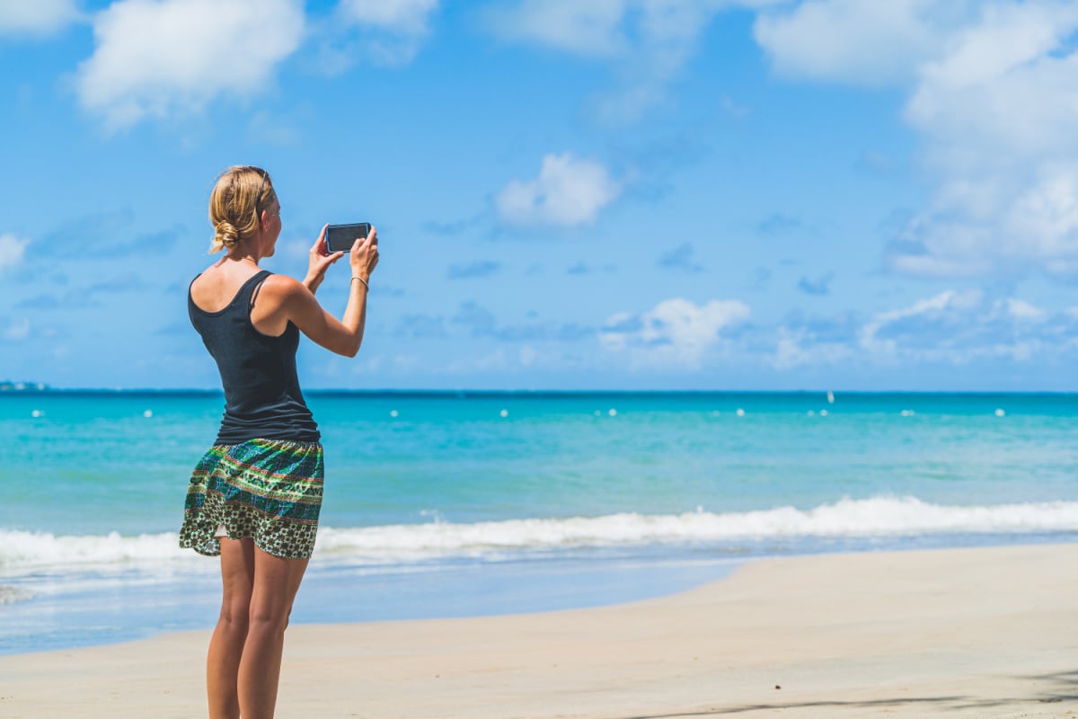
[[(1078, 533), (1078, 502), (941, 506), (915, 497), (843, 499), (811, 510), (619, 513), (594, 517), (433, 522), (321, 527), (317, 554), (391, 564), (444, 556), (500, 556), (507, 551), (706, 543), (770, 538), (872, 538), (940, 534)], [(193, 557), (177, 535), (55, 536), (0, 529), (0, 569), (95, 563), (158, 564)]]

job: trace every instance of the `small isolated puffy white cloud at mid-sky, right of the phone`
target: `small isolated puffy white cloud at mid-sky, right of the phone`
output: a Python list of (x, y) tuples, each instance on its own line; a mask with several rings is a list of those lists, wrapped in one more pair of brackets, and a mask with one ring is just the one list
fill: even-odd
[(620, 192), (603, 165), (565, 153), (545, 155), (536, 179), (511, 180), (495, 205), (514, 224), (572, 226), (594, 222)]

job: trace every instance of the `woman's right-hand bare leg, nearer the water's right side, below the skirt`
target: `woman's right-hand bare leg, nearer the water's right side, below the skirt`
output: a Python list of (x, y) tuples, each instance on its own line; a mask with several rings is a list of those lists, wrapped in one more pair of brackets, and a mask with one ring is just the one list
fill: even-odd
[(239, 660), (239, 708), (244, 719), (273, 718), (285, 627), (307, 562), (282, 559), (254, 548), (254, 589), (247, 642)]

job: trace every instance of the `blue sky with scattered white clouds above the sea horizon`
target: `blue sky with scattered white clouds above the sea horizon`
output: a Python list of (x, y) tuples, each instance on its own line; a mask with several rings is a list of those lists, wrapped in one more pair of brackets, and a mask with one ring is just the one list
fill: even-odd
[(218, 387), (253, 164), (307, 388), (1078, 390), (1076, 2), (0, 0), (0, 381)]

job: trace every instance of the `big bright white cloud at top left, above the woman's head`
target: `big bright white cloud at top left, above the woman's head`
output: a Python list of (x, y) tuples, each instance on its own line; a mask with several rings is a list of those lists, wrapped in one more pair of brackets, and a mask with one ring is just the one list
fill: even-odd
[(119, 0), (94, 19), (79, 98), (113, 128), (196, 112), (220, 95), (246, 99), (265, 89), (303, 28), (299, 0)]

